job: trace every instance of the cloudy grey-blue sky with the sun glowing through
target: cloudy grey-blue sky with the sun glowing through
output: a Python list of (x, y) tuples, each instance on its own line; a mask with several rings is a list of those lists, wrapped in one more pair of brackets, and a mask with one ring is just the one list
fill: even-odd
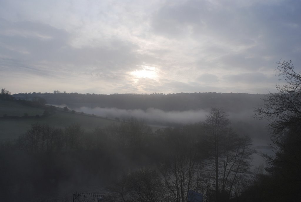
[(268, 93), (301, 67), (297, 0), (0, 0), (0, 88)]

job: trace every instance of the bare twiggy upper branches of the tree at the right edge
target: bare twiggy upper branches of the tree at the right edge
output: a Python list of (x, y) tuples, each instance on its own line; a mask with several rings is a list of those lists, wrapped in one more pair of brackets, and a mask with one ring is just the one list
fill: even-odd
[(279, 136), (290, 126), (301, 125), (301, 71), (295, 72), (291, 61), (277, 63), (278, 76), (283, 76), (285, 85), (276, 85), (263, 99), (263, 106), (255, 109), (256, 116), (270, 121), (268, 125), (274, 136)]

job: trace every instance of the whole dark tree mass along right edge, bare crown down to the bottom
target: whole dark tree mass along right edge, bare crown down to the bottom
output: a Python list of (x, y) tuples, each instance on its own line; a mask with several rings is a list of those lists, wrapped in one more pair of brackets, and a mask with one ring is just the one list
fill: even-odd
[(277, 63), (278, 76), (285, 85), (276, 85), (263, 106), (255, 109), (256, 116), (269, 120), (275, 156), (264, 157), (271, 163), (266, 170), (273, 190), (274, 201), (300, 201), (301, 194), (301, 71), (296, 72), (291, 61)]

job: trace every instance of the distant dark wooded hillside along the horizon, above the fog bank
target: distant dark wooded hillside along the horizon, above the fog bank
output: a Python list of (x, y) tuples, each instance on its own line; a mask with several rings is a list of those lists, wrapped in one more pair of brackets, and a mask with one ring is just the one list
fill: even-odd
[(246, 109), (253, 110), (261, 104), (261, 94), (247, 93), (176, 93), (176, 94), (114, 94), (96, 95), (79, 93), (19, 93), (16, 99), (32, 100), (35, 97), (44, 98), (47, 103), (72, 108), (79, 107), (116, 107), (119, 109), (156, 108), (163, 111), (199, 110), (211, 107), (223, 107), (228, 112), (239, 112)]

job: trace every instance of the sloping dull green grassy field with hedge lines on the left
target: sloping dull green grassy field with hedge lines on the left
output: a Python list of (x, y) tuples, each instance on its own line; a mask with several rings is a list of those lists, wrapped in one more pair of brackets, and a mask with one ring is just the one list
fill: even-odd
[[(30, 107), (13, 101), (0, 100), (0, 115), (23, 116), (28, 113), (29, 116), (36, 114), (42, 115), (45, 109)], [(15, 139), (24, 134), (31, 124), (48, 124), (49, 126), (65, 128), (73, 123), (79, 123), (86, 132), (92, 132), (96, 127), (105, 127), (112, 123), (118, 123), (115, 120), (92, 116), (90, 114), (80, 114), (79, 112), (64, 112), (57, 108), (53, 115), (48, 117), (20, 118), (20, 119), (1, 119), (0, 120), (0, 140)]]

